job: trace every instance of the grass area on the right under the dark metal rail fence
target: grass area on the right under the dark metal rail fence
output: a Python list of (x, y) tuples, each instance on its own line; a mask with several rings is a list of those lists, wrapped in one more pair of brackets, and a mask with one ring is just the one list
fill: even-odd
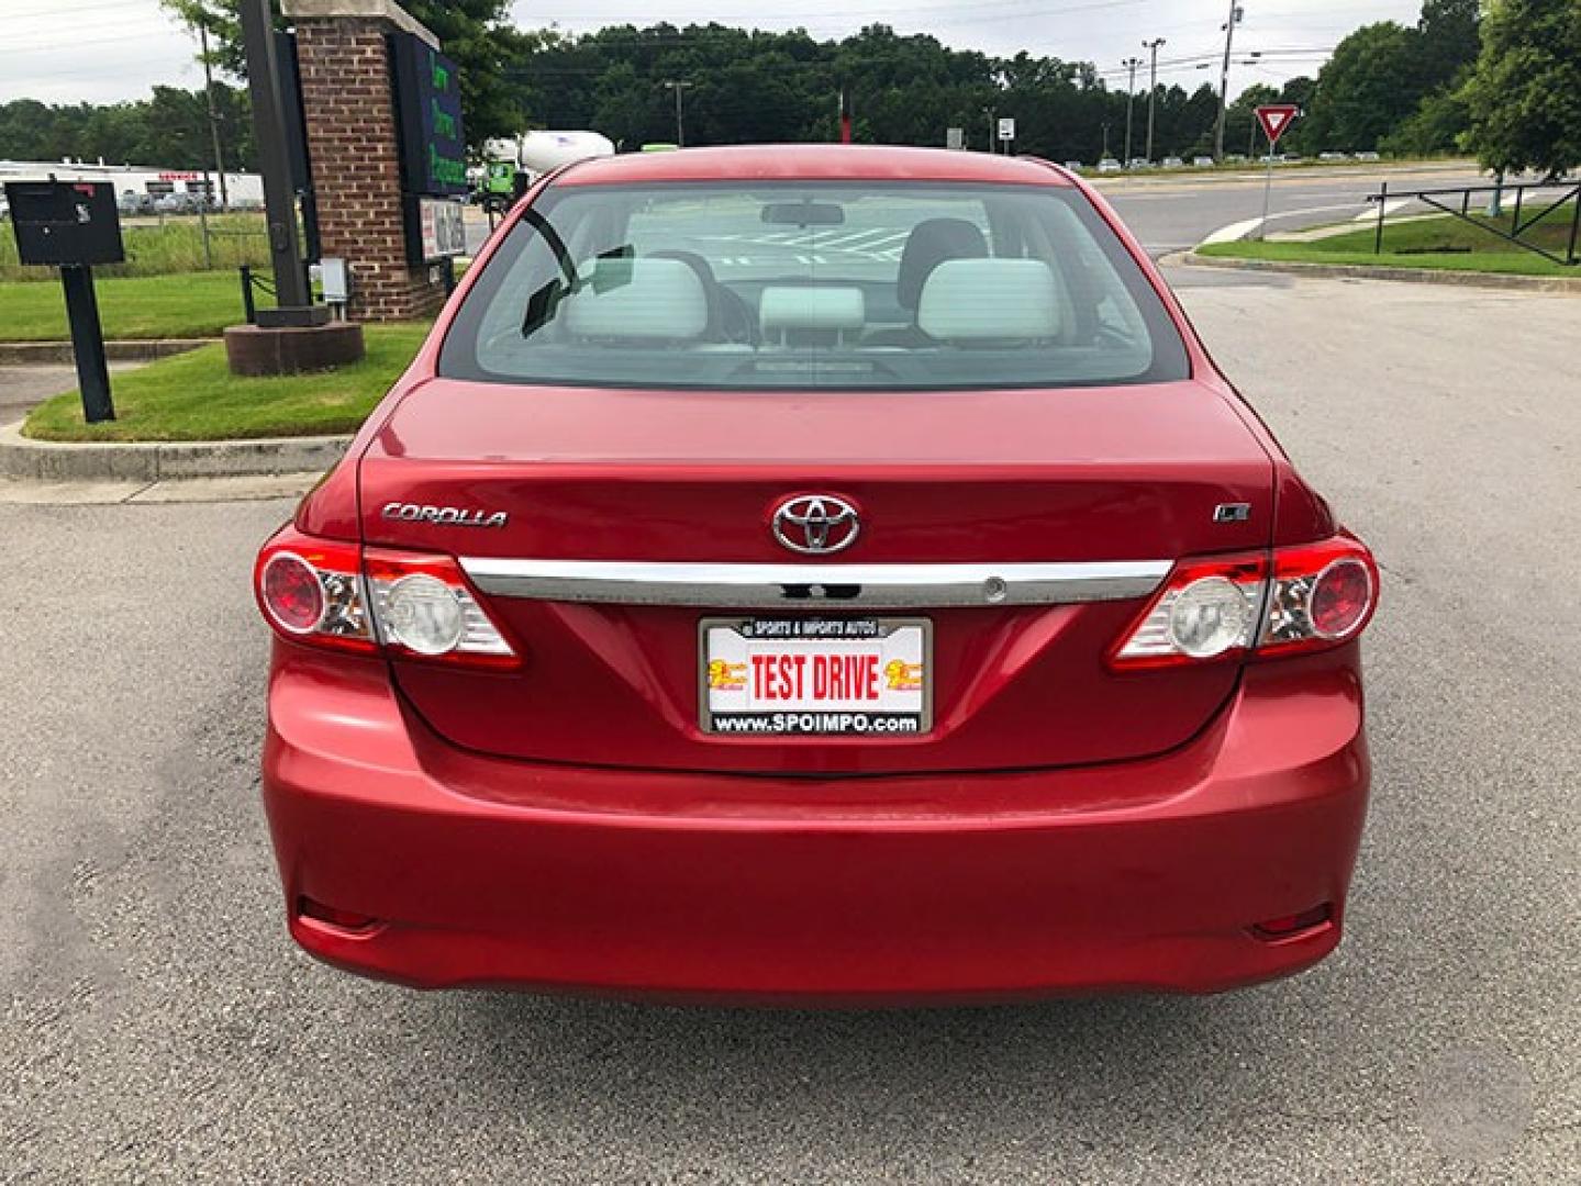
[[(1548, 251), (1565, 253), (1570, 237), (1570, 216), (1575, 207), (1565, 205), (1538, 223), (1529, 235)], [(1526, 212), (1529, 215), (1530, 210)], [(1492, 220), (1481, 218), (1491, 223)], [(1508, 231), (1510, 216), (1499, 224)], [(1410, 223), (1383, 224), (1383, 253), (1372, 253), (1375, 227), (1361, 229), (1331, 238), (1304, 243), (1252, 242), (1209, 243), (1198, 248), (1203, 256), (1228, 256), (1233, 259), (1276, 259), (1300, 264), (1363, 264), (1372, 267), (1443, 268), (1453, 272), (1505, 272), (1524, 276), (1573, 276), (1581, 280), (1581, 265), (1556, 264), (1535, 251), (1518, 248), (1469, 223), (1443, 215)]]

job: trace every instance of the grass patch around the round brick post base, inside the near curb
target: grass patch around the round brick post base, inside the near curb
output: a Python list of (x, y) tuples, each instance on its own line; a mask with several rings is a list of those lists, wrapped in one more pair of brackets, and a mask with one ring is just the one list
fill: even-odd
[(111, 377), (115, 420), (89, 425), (76, 392), (33, 409), (22, 431), (40, 441), (218, 441), (354, 431), (406, 368), (427, 324), (367, 325), (368, 355), (353, 366), (278, 379), (232, 376), (223, 346)]

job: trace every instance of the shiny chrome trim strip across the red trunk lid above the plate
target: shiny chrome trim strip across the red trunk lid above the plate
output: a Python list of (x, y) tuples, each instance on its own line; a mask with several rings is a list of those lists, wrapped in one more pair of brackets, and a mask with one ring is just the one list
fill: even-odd
[(1143, 597), (1170, 561), (1085, 564), (666, 564), (463, 557), (498, 597), (704, 608), (1073, 605)]

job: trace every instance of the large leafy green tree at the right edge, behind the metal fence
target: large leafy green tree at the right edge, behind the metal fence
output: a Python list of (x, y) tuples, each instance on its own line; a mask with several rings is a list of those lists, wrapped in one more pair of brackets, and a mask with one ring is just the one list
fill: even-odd
[(1483, 166), (1557, 175), (1581, 164), (1581, 3), (1494, 0), (1464, 96)]

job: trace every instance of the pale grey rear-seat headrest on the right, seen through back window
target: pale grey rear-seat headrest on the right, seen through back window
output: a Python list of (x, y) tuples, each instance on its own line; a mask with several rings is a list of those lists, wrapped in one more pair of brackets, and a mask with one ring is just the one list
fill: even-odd
[(950, 259), (922, 287), (917, 328), (939, 341), (1053, 338), (1055, 273), (1040, 259)]

